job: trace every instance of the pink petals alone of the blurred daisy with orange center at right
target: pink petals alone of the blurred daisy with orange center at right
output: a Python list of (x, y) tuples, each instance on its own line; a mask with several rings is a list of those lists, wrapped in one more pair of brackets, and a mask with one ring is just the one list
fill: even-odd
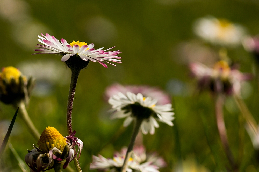
[(244, 74), (237, 69), (222, 70), (220, 68), (210, 68), (202, 63), (191, 63), (190, 70), (198, 79), (199, 86), (206, 87), (211, 81), (215, 82), (217, 92), (222, 92), (222, 81), (228, 81), (231, 87), (226, 90), (227, 94), (236, 94), (240, 96), (241, 82), (251, 78), (250, 74)]

